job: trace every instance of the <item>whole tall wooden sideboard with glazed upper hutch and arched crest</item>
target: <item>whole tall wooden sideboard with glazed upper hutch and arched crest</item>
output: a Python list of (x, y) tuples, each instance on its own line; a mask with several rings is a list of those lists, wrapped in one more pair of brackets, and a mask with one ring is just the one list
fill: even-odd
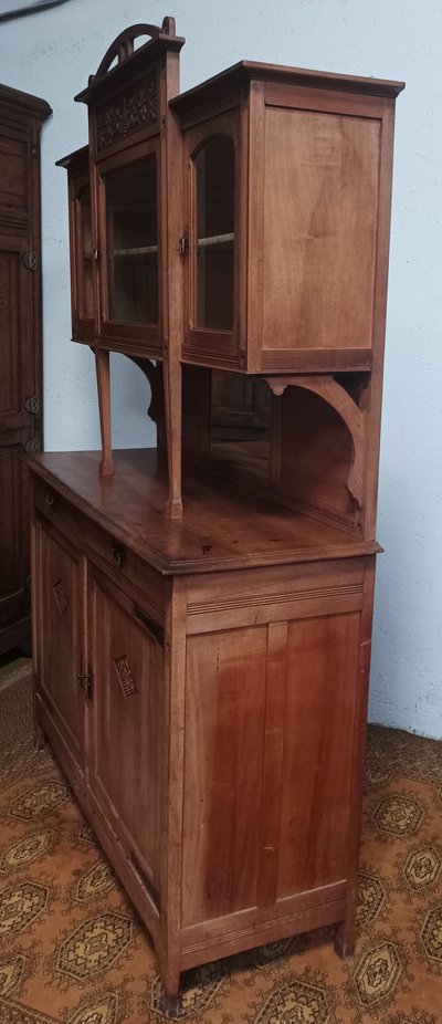
[[(333, 922), (354, 945), (403, 87), (243, 61), (179, 95), (182, 44), (171, 18), (135, 25), (76, 97), (88, 146), (60, 163), (101, 476), (32, 462), (39, 723), (169, 1011), (218, 955)], [(149, 379), (156, 452), (113, 457), (110, 351)]]

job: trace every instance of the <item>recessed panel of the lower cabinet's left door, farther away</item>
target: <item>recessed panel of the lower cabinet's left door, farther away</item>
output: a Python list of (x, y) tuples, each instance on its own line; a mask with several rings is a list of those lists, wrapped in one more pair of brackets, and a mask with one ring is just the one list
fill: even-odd
[(85, 673), (82, 557), (52, 527), (50, 532), (38, 522), (35, 531), (38, 694), (42, 694), (50, 715), (48, 733), (57, 753), (61, 753), (62, 764), (67, 760), (82, 779), (85, 735), (85, 692), (84, 686), (81, 686)]

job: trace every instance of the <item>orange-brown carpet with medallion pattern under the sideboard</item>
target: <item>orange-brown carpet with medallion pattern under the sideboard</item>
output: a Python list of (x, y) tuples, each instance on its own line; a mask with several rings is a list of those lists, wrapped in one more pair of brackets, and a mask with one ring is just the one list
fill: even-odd
[[(3, 678), (2, 678), (3, 682)], [(442, 1022), (442, 744), (371, 728), (359, 939), (332, 930), (182, 979), (187, 1024)], [(0, 688), (0, 1024), (160, 1024), (155, 955), (49, 751), (30, 670)]]

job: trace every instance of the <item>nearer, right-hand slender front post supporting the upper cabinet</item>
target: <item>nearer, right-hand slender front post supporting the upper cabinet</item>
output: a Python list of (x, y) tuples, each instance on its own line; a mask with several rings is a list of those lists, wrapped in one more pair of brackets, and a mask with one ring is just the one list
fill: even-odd
[(167, 464), (170, 519), (182, 515), (181, 498), (181, 366), (169, 355), (164, 359)]

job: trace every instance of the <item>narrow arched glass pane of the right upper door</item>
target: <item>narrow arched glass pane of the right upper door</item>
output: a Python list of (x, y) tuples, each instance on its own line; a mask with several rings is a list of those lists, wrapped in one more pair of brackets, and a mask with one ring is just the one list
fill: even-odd
[(197, 327), (233, 326), (234, 145), (223, 135), (209, 138), (196, 159)]

